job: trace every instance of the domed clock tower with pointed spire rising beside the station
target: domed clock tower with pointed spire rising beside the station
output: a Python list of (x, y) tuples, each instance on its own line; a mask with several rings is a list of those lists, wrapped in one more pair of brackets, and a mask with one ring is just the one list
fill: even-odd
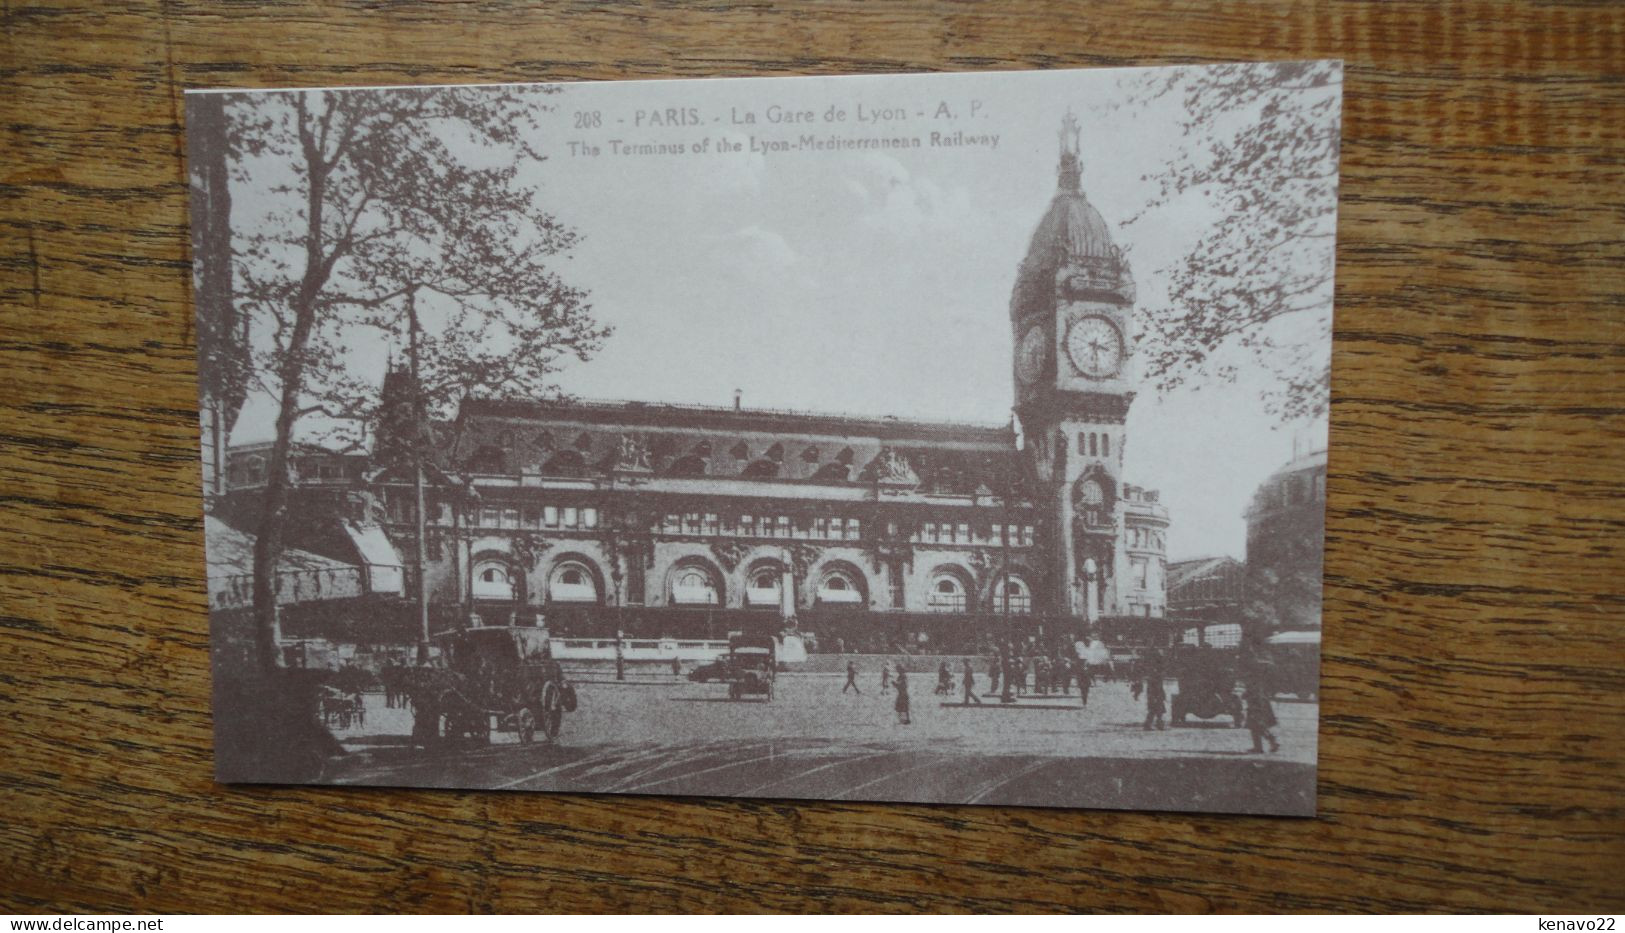
[(1058, 187), (1016, 275), (1016, 414), (1048, 504), (1051, 611), (1116, 613), (1123, 427), (1134, 400), (1134, 278), (1082, 190), (1079, 128), (1061, 124)]

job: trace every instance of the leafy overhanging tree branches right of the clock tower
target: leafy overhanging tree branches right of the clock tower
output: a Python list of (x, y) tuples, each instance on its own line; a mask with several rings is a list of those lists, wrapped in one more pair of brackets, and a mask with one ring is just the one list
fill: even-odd
[(1124, 83), (1129, 109), (1164, 99), (1183, 107), (1178, 148), (1144, 176), (1157, 193), (1124, 226), (1190, 198), (1219, 213), (1159, 270), (1167, 301), (1146, 307), (1146, 377), (1168, 392), (1261, 371), (1271, 414), (1323, 416), (1342, 63), (1188, 67)]

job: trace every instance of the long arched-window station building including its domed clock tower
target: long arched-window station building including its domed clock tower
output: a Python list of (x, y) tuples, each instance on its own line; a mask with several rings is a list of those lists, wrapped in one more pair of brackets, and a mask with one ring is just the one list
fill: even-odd
[[(296, 502), (380, 527), (408, 577), (422, 567), (437, 629), (793, 624), (819, 650), (983, 650), (1160, 619), (1168, 512), (1123, 476), (1134, 283), (1081, 177), (1068, 119), (1016, 270), (1009, 424), (466, 400), (429, 431), (419, 559), (419, 466), (392, 427), (413, 387), (393, 371), (370, 455), (296, 457)], [(232, 452), (232, 488), (255, 484), (254, 457)]]

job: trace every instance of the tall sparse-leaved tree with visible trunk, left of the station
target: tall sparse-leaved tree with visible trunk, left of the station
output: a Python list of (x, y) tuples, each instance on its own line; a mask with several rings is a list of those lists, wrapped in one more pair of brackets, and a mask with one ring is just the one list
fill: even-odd
[[(257, 327), (254, 374), (276, 398), (254, 551), (263, 665), (276, 665), (275, 571), (296, 426), (370, 413), (377, 387), (354, 361), (377, 353), (380, 332), (408, 341), (421, 424), (470, 393), (552, 392), (559, 361), (585, 359), (608, 333), (585, 293), (551, 270), (575, 234), (523, 174), (541, 159), (531, 140), (548, 93), (297, 91), (231, 102), (234, 182), (275, 202), (234, 237), (236, 304)], [(419, 473), (426, 442), (419, 431), (410, 445)]]

